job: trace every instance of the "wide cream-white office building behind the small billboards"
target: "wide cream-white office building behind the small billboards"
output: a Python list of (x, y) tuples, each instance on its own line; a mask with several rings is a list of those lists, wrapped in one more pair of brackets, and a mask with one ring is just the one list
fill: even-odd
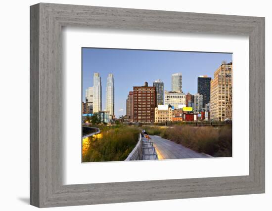
[(174, 109), (186, 106), (186, 95), (183, 92), (164, 91), (164, 105), (171, 105)]

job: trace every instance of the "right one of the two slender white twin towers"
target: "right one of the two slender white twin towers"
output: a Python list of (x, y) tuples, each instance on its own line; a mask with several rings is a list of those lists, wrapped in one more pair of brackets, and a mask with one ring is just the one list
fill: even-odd
[(113, 74), (109, 74), (108, 77), (107, 77), (106, 111), (109, 111), (110, 117), (114, 116), (114, 80), (113, 80)]

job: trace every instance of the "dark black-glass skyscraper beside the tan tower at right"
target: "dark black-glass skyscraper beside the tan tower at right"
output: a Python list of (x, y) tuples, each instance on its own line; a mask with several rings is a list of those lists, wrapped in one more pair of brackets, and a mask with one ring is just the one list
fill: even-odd
[(211, 101), (211, 80), (208, 76), (199, 76), (197, 78), (197, 93), (203, 96), (203, 106)]

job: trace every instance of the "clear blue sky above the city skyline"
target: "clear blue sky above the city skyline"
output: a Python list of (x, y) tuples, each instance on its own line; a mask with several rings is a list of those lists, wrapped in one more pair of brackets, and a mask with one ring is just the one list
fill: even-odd
[(197, 77), (213, 78), (222, 61), (232, 61), (231, 53), (205, 53), (183, 51), (156, 51), (107, 48), (82, 49), (82, 99), (85, 90), (93, 85), (93, 73), (99, 73), (102, 83), (102, 109), (105, 109), (106, 81), (109, 73), (114, 77), (115, 116), (126, 114), (126, 99), (133, 86), (148, 85), (161, 79), (164, 90), (171, 91), (171, 75), (182, 73), (182, 90), (197, 92)]

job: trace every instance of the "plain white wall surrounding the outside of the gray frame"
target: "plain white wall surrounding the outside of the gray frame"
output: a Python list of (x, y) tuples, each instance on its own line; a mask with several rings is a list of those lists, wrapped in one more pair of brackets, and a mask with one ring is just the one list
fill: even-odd
[[(0, 161), (1, 161), (1, 210), (31, 211), (35, 208), (28, 205), (29, 200), (29, 5), (36, 0), (2, 1), (1, 33), (0, 33)], [(271, 77), (272, 68), (272, 13), (268, 0), (47, 0), (52, 3), (83, 4), (112, 7), (128, 7), (139, 9), (158, 9), (185, 12), (203, 12), (231, 15), (249, 15), (266, 17), (266, 78)], [(267, 81), (268, 82), (268, 81)], [(266, 98), (271, 100), (271, 92), (267, 85)], [(19, 93), (19, 94), (18, 94)], [(16, 94), (16, 95), (15, 95)], [(268, 97), (270, 95), (270, 97)], [(15, 99), (16, 96), (16, 99)], [(14, 100), (20, 102), (15, 103)], [(55, 208), (54, 210), (93, 210), (93, 211), (127, 211), (130, 210), (263, 210), (272, 209), (272, 160), (271, 133), (268, 128), (268, 109), (271, 103), (266, 102), (266, 194), (241, 195), (227, 197), (210, 197), (197, 199), (168, 200), (155, 202), (137, 202), (110, 205), (80, 206)], [(14, 130), (14, 126), (17, 128)], [(13, 127), (13, 128), (11, 128)], [(17, 136), (14, 135), (17, 132)], [(270, 151), (270, 155), (269, 155)]]

